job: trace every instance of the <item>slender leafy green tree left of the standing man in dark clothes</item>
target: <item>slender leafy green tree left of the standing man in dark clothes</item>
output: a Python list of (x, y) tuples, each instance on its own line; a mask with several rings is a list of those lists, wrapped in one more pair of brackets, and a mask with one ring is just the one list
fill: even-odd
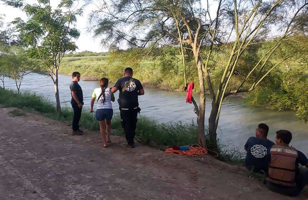
[(79, 31), (74, 27), (76, 15), (81, 9), (75, 9), (74, 0), (62, 0), (56, 9), (52, 9), (49, 0), (38, 0), (37, 4), (23, 4), (20, 0), (7, 1), (8, 5), (22, 7), (28, 20), (16, 18), (20, 38), (31, 58), (42, 62), (48, 69), (55, 88), (57, 114), (61, 113), (58, 70), (64, 54), (77, 48), (73, 39), (79, 37)]

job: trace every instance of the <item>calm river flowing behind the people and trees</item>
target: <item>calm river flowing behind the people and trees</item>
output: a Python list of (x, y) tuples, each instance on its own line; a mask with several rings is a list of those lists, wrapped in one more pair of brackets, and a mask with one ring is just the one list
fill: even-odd
[[(70, 106), (70, 85), (71, 76), (59, 75), (59, 93), (61, 106)], [(84, 93), (84, 107), (89, 108), (91, 95), (94, 88), (99, 87), (98, 81), (79, 82)], [(16, 90), (15, 82), (6, 79), (6, 88)], [(109, 85), (113, 86), (112, 84)], [(41, 74), (29, 74), (24, 77), (21, 91), (29, 91), (44, 96), (47, 100), (55, 102), (54, 86), (52, 80)], [(139, 97), (141, 114), (155, 119), (161, 123), (182, 122), (191, 123), (196, 121), (196, 114), (193, 112), (193, 105), (185, 103), (186, 93), (163, 91), (156, 88), (144, 88), (145, 95)], [(115, 94), (116, 99), (118, 92)], [(196, 100), (197, 94), (193, 94)], [(118, 104), (113, 103), (115, 112), (118, 111)], [(206, 98), (206, 125), (207, 118), (211, 111), (210, 97)], [(280, 129), (291, 131), (293, 139), (291, 145), (300, 151), (308, 154), (307, 136), (308, 126), (298, 121), (293, 111), (275, 111), (265, 108), (250, 108), (242, 103), (241, 99), (229, 98), (224, 101), (217, 134), (223, 144), (229, 147), (242, 148), (248, 137), (255, 135), (256, 126), (259, 123), (269, 125), (268, 139), (275, 140), (275, 132)]]

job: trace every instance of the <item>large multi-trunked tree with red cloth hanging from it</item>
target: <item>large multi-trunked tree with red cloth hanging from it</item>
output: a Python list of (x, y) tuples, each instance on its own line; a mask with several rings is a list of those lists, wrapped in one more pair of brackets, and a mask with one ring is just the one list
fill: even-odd
[[(218, 0), (215, 5), (198, 0), (103, 1), (91, 15), (97, 36), (104, 44), (149, 47), (173, 44), (192, 53), (200, 86), (197, 114), (198, 142), (205, 146), (205, 95), (211, 95), (209, 137), (217, 147), (217, 127), (223, 100), (253, 91), (283, 61), (298, 52), (286, 52), (281, 62), (269, 62), (274, 52), (288, 42), (300, 44), (307, 34), (306, 0)], [(269, 30), (277, 30), (273, 36)], [(271, 41), (264, 53), (249, 66), (241, 65), (252, 46)], [(215, 58), (224, 52), (226, 61)], [(185, 59), (183, 60), (185, 66)], [(218, 81), (214, 71), (221, 70)], [(238, 71), (242, 73), (237, 73)], [(230, 85), (234, 79), (238, 84)]]

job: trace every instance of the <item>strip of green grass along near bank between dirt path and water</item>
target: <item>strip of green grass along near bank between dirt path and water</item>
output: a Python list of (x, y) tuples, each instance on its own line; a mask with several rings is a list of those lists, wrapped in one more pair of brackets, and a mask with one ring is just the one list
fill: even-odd
[[(2, 88), (0, 88), (0, 104), (4, 107), (16, 107), (27, 112), (38, 112), (52, 119), (66, 121), (68, 124), (71, 123), (73, 117), (70, 108), (62, 108), (62, 114), (58, 116), (55, 106), (40, 96), (29, 93), (18, 95), (14, 91), (3, 90)], [(16, 115), (21, 114), (17, 112)], [(94, 114), (87, 112), (87, 110), (84, 110), (82, 113), (80, 125), (82, 128), (91, 131), (99, 130)], [(112, 134), (123, 134), (119, 115), (115, 115), (112, 119), (112, 128)], [(139, 117), (136, 140), (142, 144), (160, 149), (172, 147), (174, 144), (190, 145), (197, 141), (197, 126), (194, 123), (157, 123), (146, 117)], [(220, 160), (234, 164), (242, 163), (243, 161), (242, 154), (237, 148), (230, 151), (227, 146), (220, 144), (218, 151), (220, 153)]]

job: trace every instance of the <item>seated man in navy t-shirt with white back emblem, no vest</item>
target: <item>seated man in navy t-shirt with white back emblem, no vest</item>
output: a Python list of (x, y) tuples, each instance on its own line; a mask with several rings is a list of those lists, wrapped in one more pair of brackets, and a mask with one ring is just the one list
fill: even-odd
[(260, 123), (256, 128), (256, 137), (249, 137), (245, 144), (245, 150), (247, 155), (245, 158), (246, 168), (253, 170), (254, 172), (264, 171), (268, 172), (270, 161), (270, 148), (274, 145), (274, 142), (267, 139), (269, 133), (269, 127)]

